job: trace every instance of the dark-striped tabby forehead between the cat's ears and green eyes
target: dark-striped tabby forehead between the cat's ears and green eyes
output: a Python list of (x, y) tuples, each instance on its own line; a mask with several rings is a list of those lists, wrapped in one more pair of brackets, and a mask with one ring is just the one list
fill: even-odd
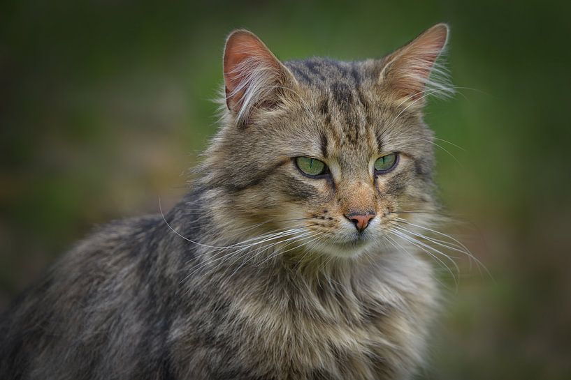
[(394, 113), (382, 104), (375, 86), (379, 70), (374, 61), (312, 58), (284, 64), (298, 80), (311, 108), (315, 120), (312, 138), (319, 137), (322, 156), (370, 160), (370, 155), (391, 148), (387, 146), (391, 135), (403, 132), (393, 120)]

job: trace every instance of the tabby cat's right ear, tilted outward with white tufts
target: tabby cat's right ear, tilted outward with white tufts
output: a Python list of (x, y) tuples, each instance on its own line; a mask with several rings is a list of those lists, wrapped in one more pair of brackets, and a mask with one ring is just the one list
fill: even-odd
[[(379, 81), (400, 104), (424, 105), (424, 97), (435, 93), (447, 96), (453, 92), (446, 84), (446, 75), (435, 68), (436, 59), (444, 50), (448, 39), (447, 24), (436, 24), (412, 42), (386, 56)], [(431, 79), (431, 73), (444, 76), (443, 82)]]

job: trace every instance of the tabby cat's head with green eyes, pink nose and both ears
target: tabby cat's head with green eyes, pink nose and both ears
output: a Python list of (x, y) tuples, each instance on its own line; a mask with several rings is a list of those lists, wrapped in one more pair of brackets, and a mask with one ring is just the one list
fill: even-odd
[(431, 81), (447, 34), (435, 25), (382, 59), (281, 62), (249, 31), (231, 33), (224, 126), (202, 172), (217, 189), (217, 224), (242, 238), (282, 233), (267, 235), (287, 241), (282, 249), (354, 257), (398, 218), (433, 211), (422, 109), (448, 91)]

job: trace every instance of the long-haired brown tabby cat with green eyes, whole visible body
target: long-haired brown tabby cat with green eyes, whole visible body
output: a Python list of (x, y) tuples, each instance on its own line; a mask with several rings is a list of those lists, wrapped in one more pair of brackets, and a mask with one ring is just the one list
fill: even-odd
[[(224, 50), (222, 128), (168, 213), (85, 238), (0, 319), (0, 379), (410, 379), (439, 291), (426, 96), (449, 29), (382, 59)], [(410, 239), (407, 238), (409, 236)]]

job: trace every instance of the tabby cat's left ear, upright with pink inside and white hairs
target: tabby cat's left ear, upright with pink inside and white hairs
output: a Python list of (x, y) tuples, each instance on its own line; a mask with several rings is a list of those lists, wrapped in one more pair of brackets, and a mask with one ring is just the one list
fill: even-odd
[(246, 30), (233, 31), (224, 48), (226, 106), (246, 126), (256, 109), (271, 109), (295, 79), (261, 40)]

